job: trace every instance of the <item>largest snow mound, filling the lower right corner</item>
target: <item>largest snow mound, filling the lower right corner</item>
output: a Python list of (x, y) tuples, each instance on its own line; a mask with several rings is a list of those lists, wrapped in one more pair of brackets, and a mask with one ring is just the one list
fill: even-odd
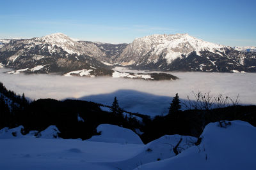
[[(222, 127), (221, 127), (222, 126)], [(140, 169), (256, 169), (256, 128), (232, 121), (207, 125), (202, 142), (176, 157), (145, 164)]]

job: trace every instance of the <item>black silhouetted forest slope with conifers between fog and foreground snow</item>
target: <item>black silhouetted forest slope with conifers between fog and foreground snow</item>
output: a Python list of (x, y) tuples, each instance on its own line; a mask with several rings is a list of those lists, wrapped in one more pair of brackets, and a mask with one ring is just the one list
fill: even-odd
[[(166, 115), (150, 118), (140, 113), (127, 113), (120, 108), (116, 97), (108, 106), (109, 111), (101, 110), (102, 104), (79, 100), (38, 99), (28, 103), (24, 94), (19, 96), (0, 83), (0, 129), (23, 125), (24, 133), (28, 133), (56, 125), (61, 138), (88, 139), (98, 134), (98, 125), (113, 124), (134, 132), (140, 129), (143, 132), (139, 134), (141, 139), (148, 143), (165, 134), (198, 137), (205, 125), (220, 120), (244, 120), (256, 126), (256, 106), (239, 106), (236, 100), (227, 106), (223, 96), (212, 97), (202, 93), (195, 96), (195, 100), (185, 104), (188, 108), (181, 110), (184, 103), (175, 94)], [(141, 117), (140, 120), (138, 117)]]

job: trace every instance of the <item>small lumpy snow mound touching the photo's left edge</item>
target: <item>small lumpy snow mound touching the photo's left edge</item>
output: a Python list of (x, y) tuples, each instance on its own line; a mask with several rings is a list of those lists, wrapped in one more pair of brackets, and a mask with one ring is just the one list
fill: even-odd
[(0, 139), (22, 138), (22, 131), (24, 131), (24, 127), (22, 125), (12, 129), (4, 127), (3, 129), (0, 130)]

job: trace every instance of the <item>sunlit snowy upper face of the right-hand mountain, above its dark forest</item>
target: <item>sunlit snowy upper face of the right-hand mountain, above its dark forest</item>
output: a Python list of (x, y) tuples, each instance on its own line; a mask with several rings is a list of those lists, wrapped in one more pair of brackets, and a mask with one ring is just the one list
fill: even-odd
[[(223, 52), (225, 46), (209, 43), (194, 38), (188, 34), (154, 34), (143, 38), (136, 38), (125, 48), (118, 61), (126, 66), (141, 63), (156, 63), (161, 55), (170, 64), (177, 58), (188, 56), (191, 52), (200, 55), (200, 51)], [(147, 60), (145, 60), (145, 58)]]

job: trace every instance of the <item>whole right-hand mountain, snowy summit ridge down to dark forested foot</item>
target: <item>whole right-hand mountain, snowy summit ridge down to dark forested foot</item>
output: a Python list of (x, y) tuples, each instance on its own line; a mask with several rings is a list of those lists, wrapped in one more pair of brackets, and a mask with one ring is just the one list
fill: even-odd
[(135, 39), (115, 62), (164, 71), (255, 72), (255, 56), (188, 34), (154, 34)]

